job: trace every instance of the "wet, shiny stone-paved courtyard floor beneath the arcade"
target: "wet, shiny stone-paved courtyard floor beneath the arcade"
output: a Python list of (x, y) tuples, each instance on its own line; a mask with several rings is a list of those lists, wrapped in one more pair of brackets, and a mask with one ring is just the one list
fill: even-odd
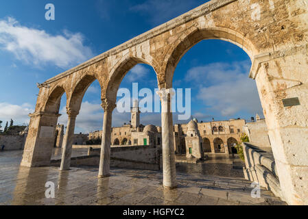
[[(180, 164), (178, 188), (164, 190), (158, 171), (112, 168), (110, 177), (97, 179), (97, 168), (21, 168), (21, 155), (0, 153), (0, 205), (285, 205), (264, 188), (252, 198), (250, 181), (202, 175), (193, 164), (192, 174)], [(47, 181), (56, 185), (55, 198), (45, 198)]]

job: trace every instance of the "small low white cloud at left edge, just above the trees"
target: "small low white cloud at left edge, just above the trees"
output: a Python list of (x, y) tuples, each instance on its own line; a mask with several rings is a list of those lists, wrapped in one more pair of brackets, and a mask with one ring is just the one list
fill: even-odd
[(0, 120), (4, 127), (6, 121), (14, 120), (14, 125), (29, 124), (29, 114), (34, 112), (34, 107), (29, 103), (23, 105), (13, 105), (10, 103), (0, 103)]

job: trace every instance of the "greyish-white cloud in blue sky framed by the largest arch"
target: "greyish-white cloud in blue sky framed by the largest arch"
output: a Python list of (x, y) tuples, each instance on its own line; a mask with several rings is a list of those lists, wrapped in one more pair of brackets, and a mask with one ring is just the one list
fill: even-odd
[(262, 114), (257, 85), (248, 78), (249, 68), (249, 62), (218, 62), (191, 68), (185, 80), (198, 82), (198, 99), (222, 116), (238, 112)]

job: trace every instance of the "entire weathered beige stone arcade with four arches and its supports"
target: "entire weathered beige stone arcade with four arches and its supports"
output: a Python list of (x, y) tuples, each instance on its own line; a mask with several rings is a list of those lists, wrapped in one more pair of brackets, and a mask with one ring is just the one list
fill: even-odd
[[(272, 10), (268, 1), (257, 1), (260, 13), (258, 16), (252, 16), (250, 3), (230, 0), (209, 2), (172, 22), (165, 23), (148, 31), (147, 34), (138, 36), (120, 47), (111, 49), (45, 81), (39, 86), (36, 110), (31, 115), (29, 135), (21, 165), (32, 167), (50, 164), (54, 131), (60, 116), (58, 114), (60, 98), (66, 93), (69, 121), (63, 151), (68, 154), (63, 156), (64, 168), (61, 165), (60, 169), (69, 169), (71, 159), (69, 148), (74, 134), (75, 118), (79, 114), (84, 93), (95, 80), (99, 81), (101, 86), (104, 108), (102, 151), (107, 152), (104, 155), (110, 154), (112, 111), (115, 109), (119, 84), (128, 70), (139, 63), (152, 66), (157, 76), (158, 88), (161, 89), (162, 105), (165, 109), (170, 109), (169, 96), (163, 89), (172, 88), (174, 70), (182, 56), (201, 40), (220, 39), (237, 44), (252, 60), (250, 77), (257, 81), (268, 130), (270, 130), (270, 141), (274, 142), (273, 146), (276, 147), (273, 150), (276, 153), (275, 157), (281, 157), (281, 160), (277, 161), (281, 186), (285, 191), (292, 191), (286, 196), (290, 202), (304, 203), (305, 198), (301, 190), (307, 190), (308, 185), (298, 186), (298, 179), (305, 179), (308, 171), (308, 165), (304, 162), (307, 153), (298, 153), (298, 151), (305, 151), (303, 147), (307, 139), (289, 136), (293, 134), (298, 136), (298, 133), (305, 136), (305, 131), (307, 132), (307, 123), (305, 123), (308, 105), (305, 101), (308, 69), (307, 29), (305, 29), (307, 11), (294, 13), (296, 10), (300, 11), (301, 4), (298, 1), (297, 4), (294, 3), (294, 7), (288, 7), (289, 4), (291, 4), (289, 1), (279, 1), (279, 5), (276, 3), (279, 10), (278, 8)], [(285, 13), (284, 16), (279, 16), (281, 12)], [(261, 19), (264, 15), (275, 19), (269, 23), (268, 19)], [(282, 31), (279, 27), (285, 21), (288, 21), (288, 25)], [(298, 28), (292, 28), (294, 26)], [(296, 64), (294, 60), (297, 60)], [(296, 98), (300, 104), (286, 107), (284, 104), (289, 103), (287, 99), (290, 98)], [(176, 170), (174, 152), (171, 152), (174, 151), (172, 150), (174, 142), (167, 139), (172, 136), (172, 114), (167, 112), (161, 116), (163, 147), (168, 149), (166, 150), (168, 154), (165, 154), (163, 159), (169, 159), (166, 163), (169, 166), (164, 170), (167, 171), (164, 172), (164, 176), (167, 177), (164, 177), (163, 185), (174, 188)], [(296, 126), (290, 129), (289, 127), (294, 124)], [(222, 142), (218, 139), (214, 144), (222, 144)], [(108, 157), (101, 156), (100, 176), (110, 174), (109, 161)], [(296, 169), (293, 168), (294, 166), (301, 166), (301, 168)], [(300, 187), (303, 189), (298, 189)]]

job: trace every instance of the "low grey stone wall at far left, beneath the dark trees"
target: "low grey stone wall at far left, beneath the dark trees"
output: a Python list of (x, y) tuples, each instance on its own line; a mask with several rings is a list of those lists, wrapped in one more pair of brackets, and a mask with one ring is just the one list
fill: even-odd
[(25, 138), (25, 136), (0, 136), (0, 149), (4, 145), (5, 151), (23, 150)]

